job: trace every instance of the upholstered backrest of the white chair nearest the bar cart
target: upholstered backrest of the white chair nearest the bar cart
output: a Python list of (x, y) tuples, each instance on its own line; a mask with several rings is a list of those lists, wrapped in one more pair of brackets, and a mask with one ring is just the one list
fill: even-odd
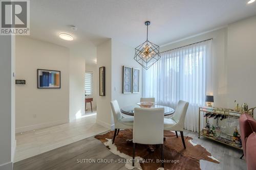
[(180, 122), (184, 124), (187, 108), (188, 108), (188, 102), (179, 101), (172, 119), (176, 123)]

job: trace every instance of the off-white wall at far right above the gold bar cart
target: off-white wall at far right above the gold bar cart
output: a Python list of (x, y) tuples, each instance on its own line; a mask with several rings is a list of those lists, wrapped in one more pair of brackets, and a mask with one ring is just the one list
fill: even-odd
[(230, 24), (227, 37), (228, 107), (234, 99), (256, 107), (256, 16)]

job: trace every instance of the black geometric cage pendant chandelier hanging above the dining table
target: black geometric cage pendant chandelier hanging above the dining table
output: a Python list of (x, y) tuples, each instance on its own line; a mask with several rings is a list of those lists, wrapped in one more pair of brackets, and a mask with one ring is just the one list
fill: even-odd
[(142, 65), (143, 68), (150, 68), (155, 62), (157, 62), (161, 56), (159, 53), (159, 46), (148, 41), (148, 26), (150, 21), (145, 22), (146, 25), (146, 41), (135, 48), (134, 59)]

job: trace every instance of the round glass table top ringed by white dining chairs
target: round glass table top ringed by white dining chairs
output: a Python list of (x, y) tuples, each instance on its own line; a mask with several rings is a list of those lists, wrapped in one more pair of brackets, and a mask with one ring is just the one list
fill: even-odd
[[(126, 106), (126, 107), (121, 108), (120, 111), (123, 114), (133, 116), (134, 115), (134, 108), (136, 108), (136, 107), (140, 107), (140, 106), (136, 105), (136, 104), (131, 105), (131, 106)], [(175, 112), (175, 110), (173, 108), (168, 107), (168, 106), (153, 105), (151, 108), (164, 108), (164, 116), (171, 115)]]

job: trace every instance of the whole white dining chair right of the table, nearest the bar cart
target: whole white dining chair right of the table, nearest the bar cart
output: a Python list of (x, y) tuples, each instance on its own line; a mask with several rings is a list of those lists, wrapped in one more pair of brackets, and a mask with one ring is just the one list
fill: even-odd
[(188, 102), (179, 101), (174, 115), (170, 118), (164, 118), (164, 130), (175, 131), (177, 138), (178, 138), (177, 131), (180, 131), (183, 147), (185, 149), (186, 149), (186, 145), (184, 141), (183, 130), (184, 130), (184, 122), (185, 122), (185, 116), (186, 116), (188, 104), (189, 104)]

